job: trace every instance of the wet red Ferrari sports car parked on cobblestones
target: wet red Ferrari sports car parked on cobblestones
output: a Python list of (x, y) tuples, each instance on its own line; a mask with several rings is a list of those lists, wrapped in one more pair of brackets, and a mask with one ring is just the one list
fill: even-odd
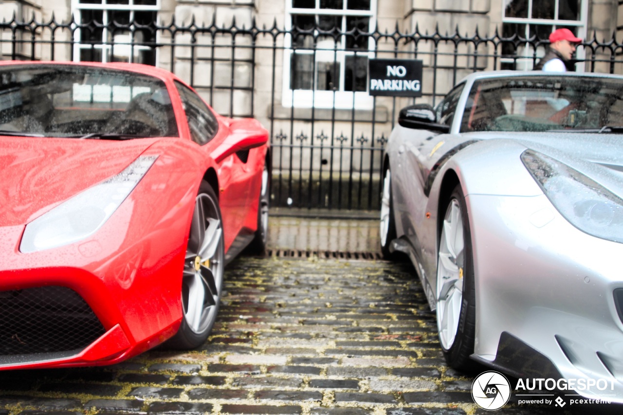
[(166, 70), (0, 62), (0, 369), (201, 345), (264, 249), (269, 159)]

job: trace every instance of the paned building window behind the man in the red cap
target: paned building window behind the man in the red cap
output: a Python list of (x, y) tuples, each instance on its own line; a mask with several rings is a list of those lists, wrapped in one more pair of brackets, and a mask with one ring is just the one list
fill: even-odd
[[(502, 16), (502, 36), (507, 38), (517, 34), (522, 39), (537, 36), (547, 40), (549, 34), (556, 29), (566, 27), (575, 36), (586, 37), (587, 0), (505, 0)], [(536, 50), (537, 57), (545, 55), (545, 45)], [(534, 64), (534, 47), (519, 44), (515, 50), (513, 44), (503, 44), (502, 69), (530, 70)], [(511, 59), (510, 55), (518, 59)], [(576, 51), (578, 59), (584, 58), (584, 49)]]

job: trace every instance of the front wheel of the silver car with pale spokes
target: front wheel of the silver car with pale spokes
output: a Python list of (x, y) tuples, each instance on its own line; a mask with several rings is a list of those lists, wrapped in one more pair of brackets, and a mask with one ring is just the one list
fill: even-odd
[(472, 238), (465, 196), (457, 185), (446, 205), (437, 253), (437, 329), (445, 360), (472, 371), (476, 322)]

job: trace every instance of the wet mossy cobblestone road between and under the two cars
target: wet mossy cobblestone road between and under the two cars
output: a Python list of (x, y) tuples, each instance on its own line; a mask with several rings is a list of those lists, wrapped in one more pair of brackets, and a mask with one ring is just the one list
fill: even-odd
[[(445, 366), (410, 264), (240, 257), (199, 350), (0, 373), (0, 415), (485, 414)], [(506, 406), (500, 414), (619, 408)]]

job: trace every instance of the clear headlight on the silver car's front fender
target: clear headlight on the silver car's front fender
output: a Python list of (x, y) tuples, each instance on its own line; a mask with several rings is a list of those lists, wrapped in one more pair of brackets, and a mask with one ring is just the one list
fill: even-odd
[(521, 161), (549, 201), (580, 231), (623, 243), (623, 199), (551, 157), (526, 150)]

